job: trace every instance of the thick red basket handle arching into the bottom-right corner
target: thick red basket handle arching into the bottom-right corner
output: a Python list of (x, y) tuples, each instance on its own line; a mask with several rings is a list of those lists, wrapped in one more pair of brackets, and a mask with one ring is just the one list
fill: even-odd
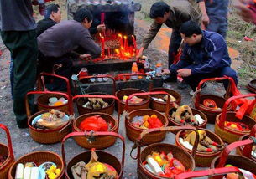
[(256, 138), (255, 137), (250, 137), (249, 139), (243, 140), (243, 141), (235, 141), (232, 144), (228, 145), (223, 151), (222, 151), (222, 156), (220, 157), (220, 161), (217, 165), (217, 168), (223, 167), (226, 164), (227, 161), (227, 156), (228, 154), (238, 146), (245, 146), (249, 145), (250, 146), (250, 152), (252, 151), (253, 144), (256, 144)]

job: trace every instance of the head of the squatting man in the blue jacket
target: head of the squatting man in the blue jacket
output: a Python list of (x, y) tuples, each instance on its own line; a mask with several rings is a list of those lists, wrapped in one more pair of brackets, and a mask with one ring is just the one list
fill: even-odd
[(180, 34), (184, 42), (188, 43), (190, 46), (201, 42), (201, 28), (193, 21), (182, 23), (180, 27)]

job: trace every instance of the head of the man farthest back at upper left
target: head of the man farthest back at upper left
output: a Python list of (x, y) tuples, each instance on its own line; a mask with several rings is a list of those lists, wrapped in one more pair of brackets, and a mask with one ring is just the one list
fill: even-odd
[(56, 23), (60, 23), (61, 12), (58, 4), (50, 4), (46, 7), (44, 18), (50, 18)]

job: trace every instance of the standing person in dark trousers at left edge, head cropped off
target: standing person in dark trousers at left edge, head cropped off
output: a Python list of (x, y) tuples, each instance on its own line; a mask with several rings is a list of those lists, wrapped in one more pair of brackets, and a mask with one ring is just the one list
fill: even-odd
[(13, 58), (13, 111), (19, 128), (28, 126), (24, 98), (34, 90), (36, 79), (38, 49), (32, 15), (31, 0), (0, 0), (1, 36)]

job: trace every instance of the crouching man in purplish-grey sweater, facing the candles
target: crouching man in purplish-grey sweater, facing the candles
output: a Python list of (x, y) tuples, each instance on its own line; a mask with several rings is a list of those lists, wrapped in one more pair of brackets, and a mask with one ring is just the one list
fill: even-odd
[(76, 58), (100, 56), (102, 49), (91, 38), (88, 30), (91, 23), (90, 11), (81, 8), (76, 12), (74, 20), (62, 21), (39, 35), (39, 69), (52, 72), (55, 64), (61, 64), (55, 73), (71, 79), (70, 55), (73, 50), (81, 47), (86, 52), (78, 54)]

